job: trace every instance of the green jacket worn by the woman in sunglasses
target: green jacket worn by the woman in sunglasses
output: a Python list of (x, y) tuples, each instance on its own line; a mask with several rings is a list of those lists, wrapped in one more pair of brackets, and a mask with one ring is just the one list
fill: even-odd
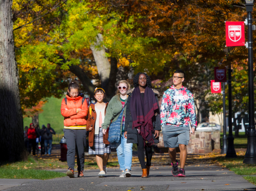
[[(108, 126), (111, 124), (111, 120), (112, 120), (112, 122), (115, 122), (119, 116), (116, 114), (119, 113), (123, 109), (122, 103), (118, 99), (119, 97), (120, 97), (119, 95), (115, 95), (108, 103), (107, 111), (106, 111), (105, 118), (104, 118), (104, 123), (102, 124), (103, 129), (108, 128)], [(127, 101), (127, 99), (126, 99), (126, 101)], [(126, 106), (124, 108), (123, 115), (125, 115), (125, 111), (126, 111)], [(120, 133), (121, 134), (122, 134), (122, 123), (123, 123), (123, 120), (121, 120), (121, 124), (120, 124)]]

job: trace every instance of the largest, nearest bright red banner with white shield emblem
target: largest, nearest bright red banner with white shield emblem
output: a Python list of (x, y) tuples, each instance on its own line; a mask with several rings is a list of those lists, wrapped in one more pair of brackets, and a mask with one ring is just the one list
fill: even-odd
[(244, 46), (244, 22), (226, 22), (226, 46)]

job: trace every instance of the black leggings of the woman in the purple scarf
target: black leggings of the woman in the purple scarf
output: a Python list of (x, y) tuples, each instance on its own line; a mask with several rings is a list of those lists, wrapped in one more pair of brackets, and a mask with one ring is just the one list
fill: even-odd
[[(152, 148), (147, 147), (147, 145), (144, 147), (144, 139), (139, 133), (137, 133), (137, 139), (138, 139), (138, 143), (137, 143), (138, 158), (141, 163), (141, 168), (146, 169), (146, 165), (151, 166), (151, 159), (153, 155)], [(147, 164), (145, 164), (144, 149), (146, 151)]]

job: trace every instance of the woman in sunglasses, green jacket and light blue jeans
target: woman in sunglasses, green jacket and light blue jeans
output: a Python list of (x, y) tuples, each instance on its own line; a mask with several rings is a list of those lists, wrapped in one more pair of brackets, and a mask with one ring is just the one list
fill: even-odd
[(130, 89), (130, 84), (126, 80), (121, 80), (117, 87), (116, 95), (110, 100), (107, 112), (105, 115), (104, 123), (102, 124), (102, 132), (106, 134), (107, 128), (112, 122), (115, 122), (119, 117), (120, 111), (124, 108), (121, 124), (120, 124), (120, 141), (116, 144), (117, 158), (122, 171), (120, 177), (131, 176), (131, 159), (132, 159), (132, 144), (126, 142), (124, 138), (124, 127), (125, 127), (125, 115), (126, 115), (126, 101), (127, 101), (127, 90)]

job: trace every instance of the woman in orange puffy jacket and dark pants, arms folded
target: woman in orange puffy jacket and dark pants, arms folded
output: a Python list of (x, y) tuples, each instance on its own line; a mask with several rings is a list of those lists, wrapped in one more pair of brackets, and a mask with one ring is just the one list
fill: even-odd
[(84, 177), (84, 146), (86, 144), (86, 116), (88, 106), (83, 97), (84, 94), (79, 92), (79, 85), (71, 82), (68, 86), (67, 96), (62, 100), (61, 113), (64, 116), (63, 131), (68, 148), (67, 176), (70, 178), (74, 178), (75, 152), (77, 154), (77, 177)]

